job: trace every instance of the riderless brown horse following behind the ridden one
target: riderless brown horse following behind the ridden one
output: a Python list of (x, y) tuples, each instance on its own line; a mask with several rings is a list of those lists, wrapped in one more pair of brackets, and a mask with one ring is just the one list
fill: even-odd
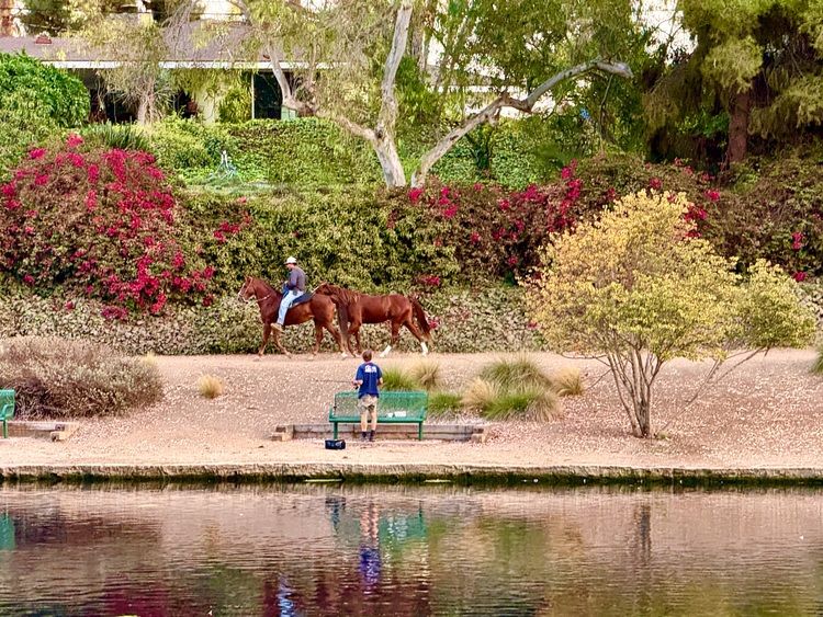
[[(390, 294), (387, 296), (370, 296), (361, 292), (352, 292), (346, 287), (322, 283), (315, 290), (317, 295), (327, 295), (337, 298), (340, 310), (340, 328), (346, 331), (343, 321), (348, 321), (348, 332), (346, 333), (346, 346), (351, 351), (350, 336), (353, 333), (358, 344), (358, 353), (361, 352), (360, 345), (360, 327), (363, 323), (383, 323), (392, 322), (392, 342), (383, 350), (380, 357), (386, 357), (392, 347), (397, 344), (401, 338), (401, 327), (405, 325), (412, 332), (415, 339), (420, 342), (422, 355), (429, 353), (426, 342), (431, 343), (431, 329), (426, 321), (426, 312), (422, 306), (415, 298), (407, 298), (399, 294)], [(345, 317), (346, 316), (346, 317)], [(417, 325), (413, 320), (417, 319)]]

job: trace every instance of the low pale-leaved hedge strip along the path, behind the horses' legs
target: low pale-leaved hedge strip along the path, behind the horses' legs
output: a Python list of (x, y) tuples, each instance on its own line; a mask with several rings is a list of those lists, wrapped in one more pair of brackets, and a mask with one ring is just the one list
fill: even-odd
[[(541, 350), (539, 331), (523, 311), (522, 290), (494, 287), (484, 290), (439, 290), (421, 297), (435, 324), (433, 352), (515, 352)], [(0, 300), (0, 338), (15, 335), (64, 336), (105, 343), (128, 354), (253, 353), (262, 341), (262, 325), (256, 302), (243, 304), (226, 295), (210, 307), (169, 309), (164, 316), (106, 320), (99, 308), (78, 301), (72, 309), (56, 300), (27, 296)], [(390, 331), (383, 324), (364, 325), (363, 344), (384, 349)], [(306, 353), (314, 344), (314, 327), (288, 328), (282, 336), (290, 351)], [(352, 342), (353, 344), (353, 342)], [(419, 351), (405, 329), (398, 351)], [(323, 351), (336, 352), (327, 333)], [(277, 353), (269, 345), (269, 353)]]

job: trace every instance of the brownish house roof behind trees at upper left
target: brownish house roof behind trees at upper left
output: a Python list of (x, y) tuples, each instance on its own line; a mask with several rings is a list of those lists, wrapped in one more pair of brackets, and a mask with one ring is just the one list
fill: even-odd
[[(269, 57), (250, 44), (251, 30), (245, 24), (194, 22), (167, 30), (164, 35), (168, 58), (164, 68), (270, 69)], [(25, 53), (32, 58), (66, 69), (104, 69), (128, 61), (81, 38), (40, 36), (0, 37), (0, 53)], [(283, 60), (284, 69), (294, 62)], [(135, 58), (138, 60), (138, 58)]]

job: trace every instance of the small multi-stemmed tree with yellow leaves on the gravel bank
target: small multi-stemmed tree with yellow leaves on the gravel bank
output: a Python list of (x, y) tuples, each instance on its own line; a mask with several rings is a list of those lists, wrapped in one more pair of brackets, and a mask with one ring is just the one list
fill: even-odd
[(758, 352), (803, 346), (814, 333), (796, 283), (765, 262), (735, 274), (734, 262), (698, 237), (690, 207), (681, 195), (624, 197), (555, 238), (526, 283), (552, 349), (609, 366), (638, 437), (653, 435), (654, 384), (667, 361), (713, 358), (704, 380), (718, 380)]

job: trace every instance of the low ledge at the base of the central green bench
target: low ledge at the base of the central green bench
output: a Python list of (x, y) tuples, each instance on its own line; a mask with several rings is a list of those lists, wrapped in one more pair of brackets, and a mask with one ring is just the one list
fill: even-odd
[[(488, 437), (487, 424), (426, 424), (422, 425), (424, 441), (474, 442), (485, 444)], [(418, 441), (417, 424), (377, 424), (380, 439)], [(278, 424), (271, 438), (275, 442), (291, 439), (331, 438), (334, 427), (330, 422), (323, 424)], [(340, 423), (338, 438), (352, 439), (360, 436), (360, 424)]]

